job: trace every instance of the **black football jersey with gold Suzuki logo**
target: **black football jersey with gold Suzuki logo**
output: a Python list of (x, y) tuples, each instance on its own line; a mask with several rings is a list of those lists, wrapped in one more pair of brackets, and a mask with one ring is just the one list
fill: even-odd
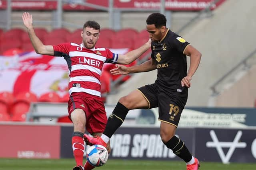
[(183, 52), (189, 44), (169, 29), (160, 42), (151, 43), (151, 58), (156, 59), (157, 67), (155, 83), (166, 92), (188, 90), (181, 86), (181, 80), (187, 75), (187, 60)]

